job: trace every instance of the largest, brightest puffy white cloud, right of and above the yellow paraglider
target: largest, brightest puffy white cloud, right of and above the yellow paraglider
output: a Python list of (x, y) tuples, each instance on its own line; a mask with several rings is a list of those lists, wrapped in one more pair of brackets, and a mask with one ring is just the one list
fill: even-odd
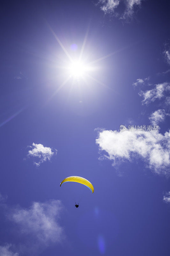
[(165, 135), (157, 131), (104, 130), (96, 140), (100, 151), (106, 151), (104, 158), (113, 160), (113, 165), (132, 158), (141, 158), (147, 167), (157, 173), (169, 173), (170, 133)]

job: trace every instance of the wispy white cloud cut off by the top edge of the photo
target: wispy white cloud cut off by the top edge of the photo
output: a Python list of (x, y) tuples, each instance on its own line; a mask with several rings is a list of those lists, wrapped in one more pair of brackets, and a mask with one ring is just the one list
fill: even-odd
[[(115, 12), (121, 2), (124, 2), (124, 12)], [(133, 17), (135, 6), (139, 6), (141, 2), (142, 0), (99, 0), (97, 5), (100, 6), (104, 14), (114, 14), (119, 19), (129, 20)]]

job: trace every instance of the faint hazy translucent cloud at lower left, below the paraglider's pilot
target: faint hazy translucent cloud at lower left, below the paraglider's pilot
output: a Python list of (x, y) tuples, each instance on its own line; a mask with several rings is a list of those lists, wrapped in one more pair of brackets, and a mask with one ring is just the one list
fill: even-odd
[(50, 243), (60, 243), (64, 238), (63, 228), (58, 223), (62, 209), (59, 200), (33, 202), (29, 209), (13, 210), (10, 219), (18, 225), (21, 234), (30, 235), (36, 244), (48, 246)]

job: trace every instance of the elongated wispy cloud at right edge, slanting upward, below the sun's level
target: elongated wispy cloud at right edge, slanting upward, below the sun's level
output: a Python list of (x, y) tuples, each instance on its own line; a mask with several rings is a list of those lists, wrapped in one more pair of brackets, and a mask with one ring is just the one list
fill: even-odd
[(142, 104), (148, 104), (151, 101), (155, 101), (156, 99), (161, 99), (165, 96), (165, 92), (170, 90), (170, 84), (162, 83), (156, 84), (155, 88), (148, 90), (148, 91), (140, 91), (138, 94), (139, 96), (143, 97)]

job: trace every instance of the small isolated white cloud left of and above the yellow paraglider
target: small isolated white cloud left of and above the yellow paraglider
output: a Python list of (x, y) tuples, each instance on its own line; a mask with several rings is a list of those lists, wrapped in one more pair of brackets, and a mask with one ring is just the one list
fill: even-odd
[(33, 157), (38, 157), (40, 158), (39, 162), (34, 162), (37, 166), (40, 166), (41, 163), (47, 161), (47, 159), (50, 161), (51, 157), (57, 153), (57, 150), (55, 149), (55, 153), (52, 152), (51, 148), (44, 147), (42, 144), (35, 144), (33, 142), (32, 146), (29, 146), (32, 148), (31, 150), (28, 151), (27, 156), (33, 156)]

